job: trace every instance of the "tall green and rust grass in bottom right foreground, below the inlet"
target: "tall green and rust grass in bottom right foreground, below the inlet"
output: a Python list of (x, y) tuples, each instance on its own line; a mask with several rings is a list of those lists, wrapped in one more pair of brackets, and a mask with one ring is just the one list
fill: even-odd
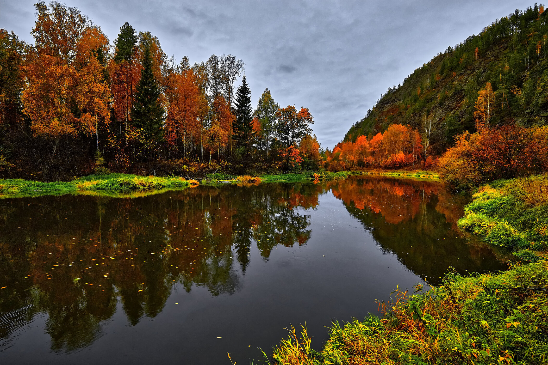
[[(548, 361), (548, 262), (502, 274), (449, 273), (427, 293), (397, 291), (384, 316), (334, 322), (322, 351), (290, 337), (276, 364), (544, 364)], [(384, 303), (383, 303), (384, 304)], [(381, 311), (382, 312), (382, 311)], [(300, 341), (300, 344), (296, 344)]]

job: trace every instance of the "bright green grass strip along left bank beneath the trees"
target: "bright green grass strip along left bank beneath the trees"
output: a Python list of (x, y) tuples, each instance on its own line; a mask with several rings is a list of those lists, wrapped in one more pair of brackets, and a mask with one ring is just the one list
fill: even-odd
[(102, 195), (132, 195), (142, 190), (181, 189), (189, 182), (179, 177), (149, 177), (110, 173), (89, 175), (69, 182), (39, 182), (24, 179), (0, 179), (0, 198), (45, 194), (101, 192)]

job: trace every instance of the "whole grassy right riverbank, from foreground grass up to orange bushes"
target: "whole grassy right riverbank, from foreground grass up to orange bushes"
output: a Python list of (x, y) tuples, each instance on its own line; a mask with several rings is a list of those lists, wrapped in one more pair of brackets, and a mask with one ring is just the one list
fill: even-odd
[[(396, 291), (381, 317), (334, 322), (321, 351), (306, 329), (275, 347), (277, 364), (544, 364), (548, 354), (548, 178), (483, 186), (460, 227), (512, 247), (520, 263), (498, 274), (454, 272), (429, 292)], [(418, 291), (421, 286), (416, 287)], [(266, 355), (265, 355), (266, 357)]]

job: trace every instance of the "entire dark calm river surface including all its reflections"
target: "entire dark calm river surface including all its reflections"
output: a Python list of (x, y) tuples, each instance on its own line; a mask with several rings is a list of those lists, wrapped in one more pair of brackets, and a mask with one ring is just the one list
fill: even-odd
[(319, 348), (398, 284), (505, 269), (456, 228), (465, 203), (363, 176), (0, 200), (0, 361), (247, 364), (305, 322)]

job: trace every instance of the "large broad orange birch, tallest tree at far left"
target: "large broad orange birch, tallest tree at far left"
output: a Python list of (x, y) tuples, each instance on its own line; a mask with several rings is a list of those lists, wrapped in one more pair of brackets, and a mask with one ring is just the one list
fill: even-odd
[[(101, 56), (109, 41), (78, 9), (51, 2), (51, 12), (37, 3), (32, 34), (36, 51), (26, 67), (24, 113), (36, 135), (60, 137), (96, 133), (108, 121), (109, 89)], [(97, 145), (99, 146), (99, 135)]]

